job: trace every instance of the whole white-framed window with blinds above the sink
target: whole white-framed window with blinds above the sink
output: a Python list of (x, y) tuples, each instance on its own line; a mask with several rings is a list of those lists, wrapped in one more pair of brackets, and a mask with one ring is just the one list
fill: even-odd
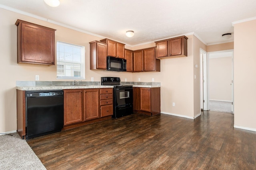
[(57, 41), (57, 78), (85, 79), (84, 47)]

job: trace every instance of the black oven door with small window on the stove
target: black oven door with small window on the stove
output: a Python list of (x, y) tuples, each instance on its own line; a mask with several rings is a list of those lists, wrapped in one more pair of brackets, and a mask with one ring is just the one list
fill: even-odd
[(114, 89), (114, 106), (132, 104), (132, 88), (116, 87)]

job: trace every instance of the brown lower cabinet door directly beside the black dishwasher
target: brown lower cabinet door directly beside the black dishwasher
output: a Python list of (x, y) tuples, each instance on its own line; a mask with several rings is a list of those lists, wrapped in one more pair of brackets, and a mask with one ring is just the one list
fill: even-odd
[(64, 90), (64, 125), (82, 122), (82, 90)]

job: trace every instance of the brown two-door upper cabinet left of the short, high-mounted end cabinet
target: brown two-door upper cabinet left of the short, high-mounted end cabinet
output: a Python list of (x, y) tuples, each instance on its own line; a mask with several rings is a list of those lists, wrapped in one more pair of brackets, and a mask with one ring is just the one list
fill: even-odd
[(160, 71), (160, 60), (155, 57), (155, 47), (133, 52), (133, 71)]

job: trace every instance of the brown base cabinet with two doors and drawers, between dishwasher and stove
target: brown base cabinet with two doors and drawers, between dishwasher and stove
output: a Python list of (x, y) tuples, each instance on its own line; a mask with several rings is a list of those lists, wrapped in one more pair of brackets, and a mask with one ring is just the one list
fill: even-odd
[(64, 130), (111, 119), (113, 89), (67, 89), (64, 91)]

